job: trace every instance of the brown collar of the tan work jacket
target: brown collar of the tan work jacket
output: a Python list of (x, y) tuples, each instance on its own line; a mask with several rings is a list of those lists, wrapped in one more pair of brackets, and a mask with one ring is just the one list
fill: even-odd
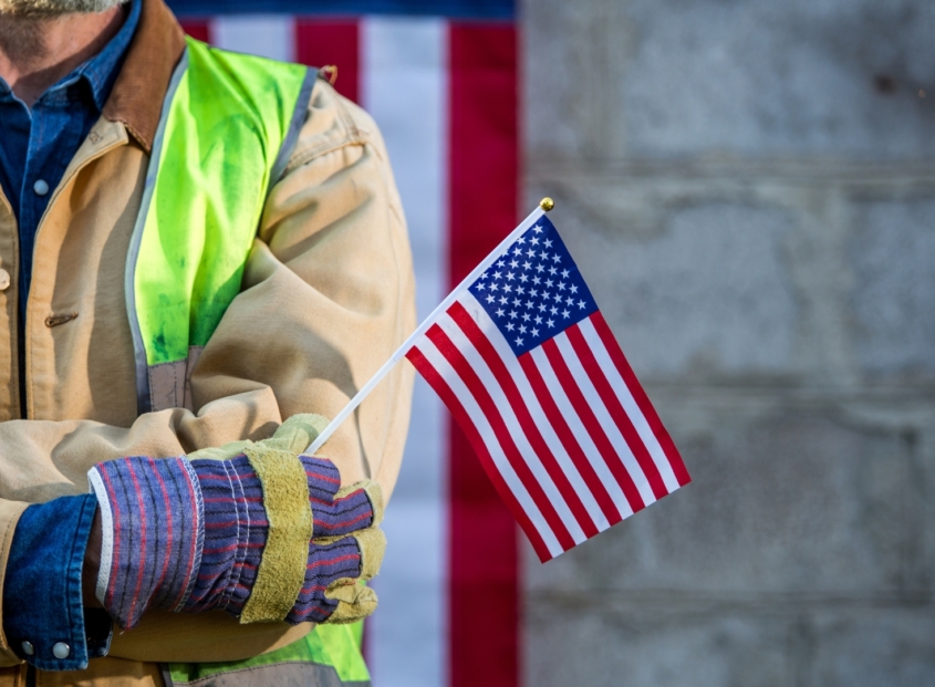
[(143, 14), (103, 115), (122, 122), (147, 152), (159, 125), (163, 98), (185, 51), (185, 33), (163, 0), (143, 0)]

